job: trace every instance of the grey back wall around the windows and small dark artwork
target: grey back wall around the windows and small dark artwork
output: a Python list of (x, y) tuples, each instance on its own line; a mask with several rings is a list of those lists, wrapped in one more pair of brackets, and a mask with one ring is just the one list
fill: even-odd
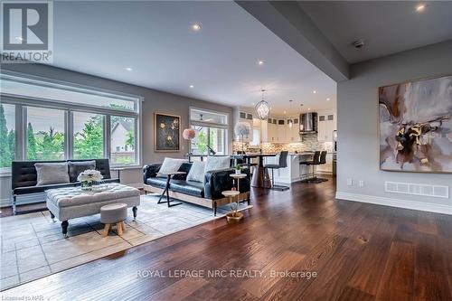
[[(232, 120), (232, 108), (219, 104), (206, 102), (198, 99), (186, 98), (171, 93), (157, 91), (155, 89), (146, 89), (115, 80), (107, 80), (88, 74), (75, 71), (67, 71), (39, 64), (4, 64), (3, 70), (22, 72), (34, 76), (41, 76), (48, 79), (63, 80), (80, 85), (119, 91), (128, 94), (134, 94), (144, 98), (142, 103), (142, 128), (141, 128), (141, 157), (142, 164), (162, 162), (165, 156), (183, 157), (188, 151), (188, 142), (182, 139), (182, 149), (178, 153), (155, 153), (154, 151), (154, 113), (169, 113), (179, 115), (182, 118), (182, 128), (188, 127), (189, 107), (206, 108), (215, 111), (228, 113), (229, 120)], [(228, 131), (229, 148), (232, 147), (232, 123)], [(140, 169), (121, 171), (121, 181), (123, 183), (140, 183)], [(0, 177), (1, 195), (0, 199), (5, 201), (9, 198), (11, 180), (9, 177)]]

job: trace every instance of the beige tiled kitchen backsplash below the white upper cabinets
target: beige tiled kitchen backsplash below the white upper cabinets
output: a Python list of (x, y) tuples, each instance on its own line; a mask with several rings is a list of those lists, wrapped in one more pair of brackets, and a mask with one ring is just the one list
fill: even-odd
[[(232, 145), (232, 151), (235, 153), (241, 150), (241, 142), (234, 141)], [(287, 150), (289, 153), (301, 153), (306, 151), (326, 150), (328, 152), (333, 151), (333, 142), (320, 142), (317, 141), (317, 135), (303, 135), (303, 142), (294, 143), (270, 143), (264, 142), (260, 146), (249, 146), (249, 143), (244, 143), (244, 150), (248, 152), (259, 152), (262, 149), (263, 153), (279, 153), (280, 151)]]

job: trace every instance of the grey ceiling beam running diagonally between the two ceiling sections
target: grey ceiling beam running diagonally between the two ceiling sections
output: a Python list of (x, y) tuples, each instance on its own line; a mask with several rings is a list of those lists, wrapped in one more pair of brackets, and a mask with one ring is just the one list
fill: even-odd
[(330, 78), (335, 81), (349, 79), (349, 64), (297, 1), (236, 3)]

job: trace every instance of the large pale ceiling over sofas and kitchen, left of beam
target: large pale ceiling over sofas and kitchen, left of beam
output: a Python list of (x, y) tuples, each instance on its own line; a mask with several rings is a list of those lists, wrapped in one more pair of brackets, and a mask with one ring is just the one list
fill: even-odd
[(231, 106), (267, 89), (277, 114), (335, 107), (334, 80), (234, 2), (55, 2), (53, 28), (64, 69)]

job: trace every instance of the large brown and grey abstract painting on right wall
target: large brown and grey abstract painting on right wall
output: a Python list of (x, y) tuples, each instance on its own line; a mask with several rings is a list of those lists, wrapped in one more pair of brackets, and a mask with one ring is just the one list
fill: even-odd
[(379, 89), (380, 168), (452, 173), (452, 76)]

